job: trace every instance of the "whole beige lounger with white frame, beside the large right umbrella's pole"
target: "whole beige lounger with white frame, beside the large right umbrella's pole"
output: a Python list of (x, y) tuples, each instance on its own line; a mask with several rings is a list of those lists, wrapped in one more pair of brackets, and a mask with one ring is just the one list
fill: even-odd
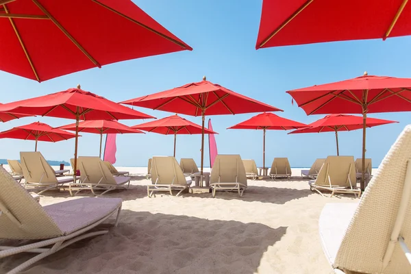
[(356, 184), (356, 167), (353, 156), (328, 156), (315, 180), (308, 182), (310, 189), (319, 192), (352, 193), (360, 198), (361, 190)]

